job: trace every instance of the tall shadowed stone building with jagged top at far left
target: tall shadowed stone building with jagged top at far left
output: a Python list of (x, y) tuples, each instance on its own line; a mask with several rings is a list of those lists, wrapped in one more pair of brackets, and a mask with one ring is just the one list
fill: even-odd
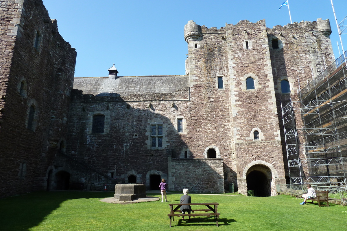
[(0, 195), (8, 196), (42, 190), (56, 149), (64, 148), (76, 52), (42, 1), (1, 7)]

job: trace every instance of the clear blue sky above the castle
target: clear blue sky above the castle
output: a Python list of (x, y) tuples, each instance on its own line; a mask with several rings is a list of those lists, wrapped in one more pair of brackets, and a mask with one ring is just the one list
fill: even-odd
[[(290, 23), (288, 7), (278, 9), (284, 1), (43, 0), (43, 4), (58, 20), (60, 34), (76, 48), (75, 77), (100, 77), (108, 76), (113, 63), (119, 76), (185, 74), (183, 30), (189, 20), (209, 28), (261, 19), (269, 28), (284, 26)], [(333, 3), (340, 23), (347, 15), (347, 1)], [(330, 19), (337, 57), (339, 37), (330, 0), (289, 0), (289, 7), (293, 22)], [(347, 50), (347, 35), (341, 37)]]

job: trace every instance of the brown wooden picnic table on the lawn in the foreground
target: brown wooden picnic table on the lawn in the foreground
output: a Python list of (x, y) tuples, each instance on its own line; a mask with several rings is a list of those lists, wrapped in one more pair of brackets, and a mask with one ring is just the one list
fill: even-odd
[[(182, 205), (205, 205), (207, 207), (207, 209), (192, 209), (192, 213), (184, 213), (182, 214), (181, 210), (179, 210), (179, 208)], [(213, 205), (213, 207), (211, 207)], [(168, 214), (169, 218), (170, 218), (170, 227), (171, 227), (171, 219), (172, 221), (174, 221), (174, 217), (184, 217), (184, 216), (214, 216), (214, 220), (216, 222), (216, 225), (218, 227), (218, 217), (219, 217), (219, 213), (217, 212), (217, 207), (218, 207), (218, 203), (216, 202), (212, 202), (212, 203), (190, 203), (190, 204), (169, 204), (170, 206), (170, 213)], [(176, 206), (176, 207), (174, 207)], [(177, 212), (177, 213), (175, 213)], [(198, 212), (198, 213), (196, 213)], [(201, 213), (201, 212), (205, 212), (205, 213)]]

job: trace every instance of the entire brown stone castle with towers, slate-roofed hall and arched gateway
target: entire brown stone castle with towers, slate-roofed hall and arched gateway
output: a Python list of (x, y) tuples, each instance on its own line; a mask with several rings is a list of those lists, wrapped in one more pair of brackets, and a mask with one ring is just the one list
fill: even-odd
[(335, 60), (329, 20), (188, 21), (185, 75), (113, 65), (74, 79), (75, 49), (41, 0), (2, 1), (0, 14), (2, 197), (115, 179), (159, 189), (161, 178), (172, 191), (276, 195), (289, 184), (281, 104)]

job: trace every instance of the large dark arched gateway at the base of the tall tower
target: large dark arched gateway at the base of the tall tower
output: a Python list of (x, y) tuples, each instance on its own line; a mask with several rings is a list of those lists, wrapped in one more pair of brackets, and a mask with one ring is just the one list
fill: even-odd
[(268, 167), (254, 165), (247, 171), (247, 191), (252, 190), (254, 196), (271, 196), (271, 179), (272, 174)]

